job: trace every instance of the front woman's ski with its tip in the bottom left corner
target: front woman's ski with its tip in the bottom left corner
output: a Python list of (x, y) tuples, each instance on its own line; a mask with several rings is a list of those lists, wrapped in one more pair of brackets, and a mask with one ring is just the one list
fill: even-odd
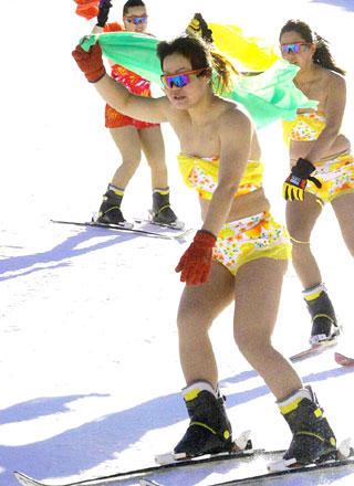
[[(92, 479), (83, 479), (73, 483), (55, 483), (55, 486), (100, 486), (108, 483), (117, 483), (119, 480), (126, 480), (139, 476), (143, 477), (150, 474), (157, 474), (173, 469), (196, 467), (201, 465), (207, 466), (221, 462), (240, 461), (249, 457), (263, 456), (263, 455), (279, 455), (279, 454), (283, 454), (284, 452), (285, 451), (266, 451), (263, 448), (256, 448), (256, 450), (249, 448), (249, 450), (237, 451), (231, 453), (205, 455), (191, 459), (174, 462), (170, 464), (143, 467), (140, 469), (125, 471), (108, 476), (95, 477)], [(33, 479), (27, 474), (20, 472), (14, 472), (14, 476), (22, 486), (51, 486), (48, 483), (42, 483), (38, 479)]]

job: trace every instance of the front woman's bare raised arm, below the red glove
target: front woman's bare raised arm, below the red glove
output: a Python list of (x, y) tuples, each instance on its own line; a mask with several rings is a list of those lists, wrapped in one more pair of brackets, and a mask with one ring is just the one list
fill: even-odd
[(103, 99), (123, 115), (149, 123), (168, 122), (166, 114), (169, 102), (166, 96), (150, 98), (134, 95), (107, 74), (94, 86)]

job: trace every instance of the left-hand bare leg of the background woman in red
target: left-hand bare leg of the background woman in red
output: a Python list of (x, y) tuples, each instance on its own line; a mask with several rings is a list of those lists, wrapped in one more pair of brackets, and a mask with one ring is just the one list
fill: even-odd
[(116, 188), (125, 189), (142, 159), (138, 130), (128, 125), (121, 128), (111, 128), (110, 131), (122, 156), (122, 165), (116, 170), (112, 184)]

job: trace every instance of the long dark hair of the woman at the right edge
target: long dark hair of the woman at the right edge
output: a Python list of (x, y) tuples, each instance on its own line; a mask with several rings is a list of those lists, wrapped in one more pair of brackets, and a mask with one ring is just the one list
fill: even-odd
[(335, 71), (340, 74), (345, 74), (345, 71), (335, 64), (334, 59), (330, 52), (329, 42), (321, 38), (316, 32), (313, 32), (305, 22), (300, 20), (289, 20), (280, 31), (279, 40), (285, 32), (296, 32), (302, 36), (304, 42), (314, 44), (316, 50), (313, 54), (313, 63), (319, 64), (326, 70)]

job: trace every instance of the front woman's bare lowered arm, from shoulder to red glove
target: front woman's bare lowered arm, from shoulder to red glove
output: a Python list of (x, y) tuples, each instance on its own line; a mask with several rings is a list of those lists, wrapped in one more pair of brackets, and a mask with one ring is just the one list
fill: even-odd
[(220, 135), (218, 187), (208, 208), (202, 230), (217, 235), (227, 221), (235, 193), (250, 156), (251, 120), (241, 112), (225, 116)]

